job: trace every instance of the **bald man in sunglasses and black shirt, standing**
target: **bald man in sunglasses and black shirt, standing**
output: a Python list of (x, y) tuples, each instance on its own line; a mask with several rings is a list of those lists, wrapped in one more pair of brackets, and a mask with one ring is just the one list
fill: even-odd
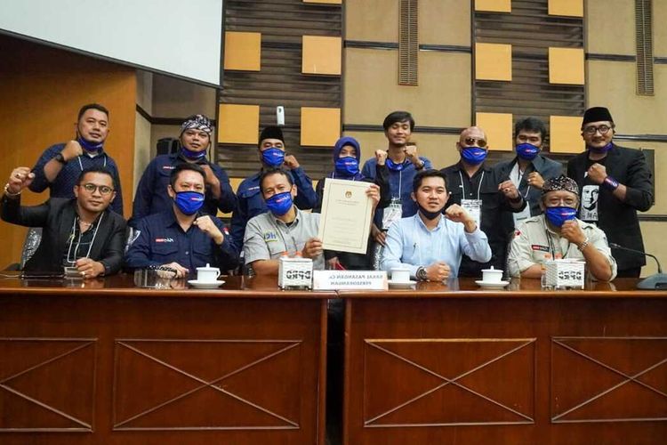
[(504, 269), (510, 231), (502, 224), (505, 213), (520, 212), (526, 201), (509, 179), (502, 181), (497, 172), (485, 163), (488, 146), (486, 134), (478, 126), (461, 132), (456, 150), (461, 159), (453, 166), (443, 168), (447, 190), (447, 207), (462, 206), (472, 215), (478, 227), (486, 233), (493, 256), (486, 263), (473, 261), (463, 255), (459, 277), (480, 277), (483, 269), (494, 266)]

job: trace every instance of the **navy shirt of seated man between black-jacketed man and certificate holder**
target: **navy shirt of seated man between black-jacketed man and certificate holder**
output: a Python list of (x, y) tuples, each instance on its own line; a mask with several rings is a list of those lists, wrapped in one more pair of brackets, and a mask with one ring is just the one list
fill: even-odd
[(222, 271), (235, 269), (238, 265), (237, 247), (221, 220), (215, 216), (211, 219), (224, 235), (220, 246), (194, 224), (188, 231), (183, 231), (173, 208), (142, 218), (136, 228), (139, 236), (125, 254), (125, 264), (131, 269), (140, 269), (176, 262), (190, 273), (207, 263)]

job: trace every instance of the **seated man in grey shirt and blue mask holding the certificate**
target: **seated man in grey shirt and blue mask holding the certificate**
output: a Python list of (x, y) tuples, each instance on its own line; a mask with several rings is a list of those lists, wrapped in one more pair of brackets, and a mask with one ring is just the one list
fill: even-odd
[[(258, 275), (277, 274), (278, 258), (296, 255), (311, 258), (314, 270), (324, 270), (322, 240), (317, 239), (319, 214), (294, 206), (297, 190), (292, 175), (281, 168), (264, 170), (260, 190), (269, 211), (258, 214), (245, 227), (245, 264)], [(373, 199), (375, 208), (380, 201), (380, 188), (368, 184), (366, 195)]]

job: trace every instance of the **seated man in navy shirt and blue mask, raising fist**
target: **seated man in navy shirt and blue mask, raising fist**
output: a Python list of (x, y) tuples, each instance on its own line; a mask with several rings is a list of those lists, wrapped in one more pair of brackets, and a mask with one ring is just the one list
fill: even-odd
[(125, 255), (127, 267), (164, 266), (176, 271), (177, 278), (187, 277), (207, 263), (223, 271), (237, 267), (237, 247), (224, 224), (200, 212), (205, 178), (197, 164), (182, 163), (172, 170), (167, 193), (173, 204), (139, 220)]

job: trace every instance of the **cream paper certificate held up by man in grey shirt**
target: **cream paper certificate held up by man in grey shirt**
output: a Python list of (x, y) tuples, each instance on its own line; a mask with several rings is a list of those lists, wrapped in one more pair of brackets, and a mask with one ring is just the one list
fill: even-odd
[(373, 199), (369, 182), (325, 178), (317, 237), (327, 250), (366, 254), (371, 231)]

